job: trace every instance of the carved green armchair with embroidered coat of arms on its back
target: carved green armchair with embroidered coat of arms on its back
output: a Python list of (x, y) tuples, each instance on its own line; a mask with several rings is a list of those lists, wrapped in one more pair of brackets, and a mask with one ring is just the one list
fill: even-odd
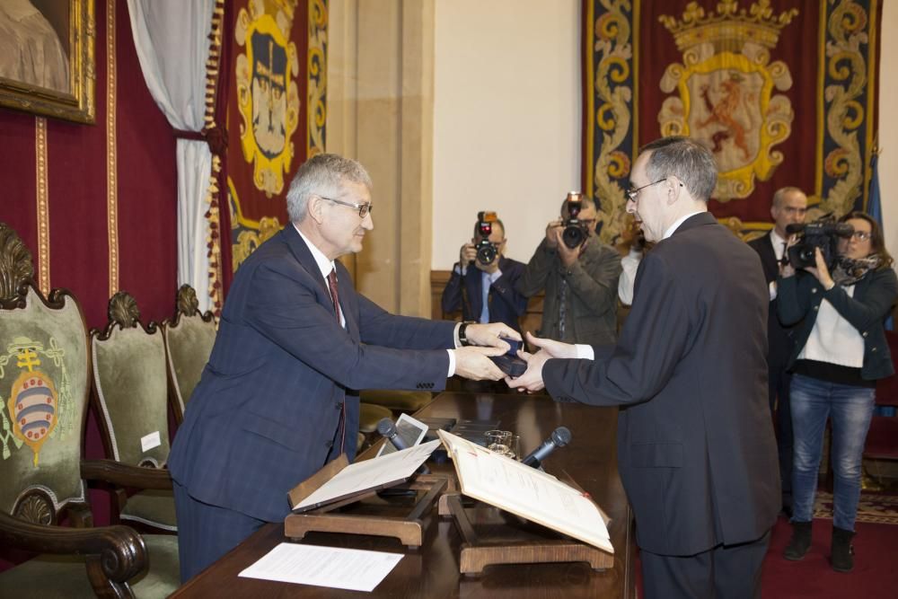
[(64, 290), (45, 299), (32, 275), (30, 252), (0, 223), (0, 545), (38, 554), (0, 573), (0, 596), (167, 596), (180, 580), (177, 538), (92, 528), (84, 479), (169, 488), (171, 479), (82, 461), (84, 313)]

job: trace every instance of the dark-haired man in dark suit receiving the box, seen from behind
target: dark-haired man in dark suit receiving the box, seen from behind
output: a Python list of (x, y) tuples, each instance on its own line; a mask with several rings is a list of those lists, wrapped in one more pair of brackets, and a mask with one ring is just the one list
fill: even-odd
[(704, 146), (659, 139), (630, 181), (627, 210), (656, 245), (621, 339), (531, 338), (542, 349), (508, 384), (621, 408), (618, 467), (647, 597), (757, 597), (779, 512), (761, 264), (707, 211), (717, 170)]

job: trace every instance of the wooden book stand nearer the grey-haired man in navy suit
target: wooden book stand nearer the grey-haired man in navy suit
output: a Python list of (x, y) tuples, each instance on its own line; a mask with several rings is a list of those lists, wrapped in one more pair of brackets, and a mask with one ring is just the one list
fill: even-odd
[[(330, 462), (312, 478), (305, 480), (290, 492), (291, 505), (296, 505), (311, 495), (315, 489), (321, 487), (347, 465), (345, 455)], [(418, 548), (421, 546), (426, 528), (424, 516), (448, 484), (449, 480), (445, 476), (418, 474), (408, 482), (390, 487), (390, 489), (416, 491), (413, 501), (403, 501), (401, 504), (388, 501), (365, 502), (365, 499), (375, 498), (378, 490), (366, 489), (302, 514), (287, 515), (284, 520), (284, 534), (292, 539), (302, 539), (306, 533), (313, 532), (371, 534), (395, 537), (409, 548)], [(347, 507), (345, 512), (333, 513), (343, 507)], [(402, 515), (394, 515), (397, 510), (401, 511)]]

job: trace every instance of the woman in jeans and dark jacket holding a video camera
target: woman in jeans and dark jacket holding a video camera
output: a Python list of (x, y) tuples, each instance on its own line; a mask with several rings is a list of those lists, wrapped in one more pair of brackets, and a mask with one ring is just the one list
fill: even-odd
[(801, 322), (790, 358), (794, 505), (792, 538), (783, 557), (802, 559), (810, 549), (823, 431), (830, 418), (835, 477), (831, 563), (848, 572), (854, 567), (850, 542), (876, 380), (894, 373), (883, 322), (898, 296), (898, 277), (876, 221), (852, 212), (841, 222), (854, 227), (854, 233), (840, 238), (832, 272), (815, 248), (815, 266), (796, 274), (786, 265), (778, 282), (779, 320), (785, 325)]

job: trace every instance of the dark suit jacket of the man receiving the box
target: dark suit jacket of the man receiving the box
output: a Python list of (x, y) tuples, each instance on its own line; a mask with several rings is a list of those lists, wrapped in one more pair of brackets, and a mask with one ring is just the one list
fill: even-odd
[(757, 255), (691, 216), (642, 260), (617, 345), (543, 368), (560, 401), (621, 407), (618, 466), (647, 551), (753, 541), (776, 520), (767, 304)]

